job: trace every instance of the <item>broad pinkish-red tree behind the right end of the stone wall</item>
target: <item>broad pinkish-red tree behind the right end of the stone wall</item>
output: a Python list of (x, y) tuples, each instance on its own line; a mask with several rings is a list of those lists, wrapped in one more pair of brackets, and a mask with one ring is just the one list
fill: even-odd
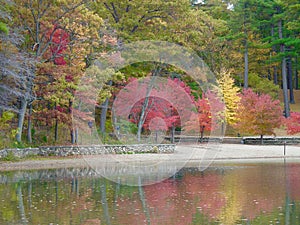
[[(116, 96), (114, 113), (116, 117), (129, 118), (144, 131), (171, 128), (172, 139), (175, 127), (187, 121), (188, 108), (194, 106), (190, 88), (179, 79), (146, 77), (130, 79)], [(176, 93), (176, 94), (175, 94)], [(155, 119), (156, 118), (156, 119)]]

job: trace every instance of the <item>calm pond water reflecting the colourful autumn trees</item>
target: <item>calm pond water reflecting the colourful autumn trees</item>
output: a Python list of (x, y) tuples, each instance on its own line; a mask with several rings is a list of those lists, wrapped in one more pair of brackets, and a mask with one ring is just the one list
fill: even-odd
[(300, 164), (183, 168), (123, 186), (89, 168), (0, 173), (0, 224), (300, 224)]

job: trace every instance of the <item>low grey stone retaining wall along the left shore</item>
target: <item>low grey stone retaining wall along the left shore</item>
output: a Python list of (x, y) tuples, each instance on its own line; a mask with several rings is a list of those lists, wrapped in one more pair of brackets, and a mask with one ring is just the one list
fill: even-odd
[(93, 146), (41, 146), (39, 148), (0, 150), (0, 158), (9, 154), (22, 158), (30, 155), (38, 156), (71, 156), (100, 154), (139, 154), (139, 153), (173, 153), (175, 145), (93, 145)]

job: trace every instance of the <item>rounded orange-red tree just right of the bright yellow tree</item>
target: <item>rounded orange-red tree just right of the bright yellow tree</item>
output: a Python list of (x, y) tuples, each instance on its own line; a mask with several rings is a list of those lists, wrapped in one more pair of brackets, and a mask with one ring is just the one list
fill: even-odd
[(279, 100), (272, 100), (268, 94), (258, 95), (250, 88), (243, 90), (237, 110), (236, 129), (241, 134), (274, 134), (282, 124), (282, 109)]

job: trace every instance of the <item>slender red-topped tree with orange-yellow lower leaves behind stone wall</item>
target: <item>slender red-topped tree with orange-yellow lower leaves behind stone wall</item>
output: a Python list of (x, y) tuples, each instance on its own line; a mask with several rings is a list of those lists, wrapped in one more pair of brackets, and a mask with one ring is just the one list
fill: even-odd
[(55, 126), (54, 140), (58, 140), (58, 124), (72, 129), (72, 98), (75, 91), (76, 67), (66, 65), (65, 54), (70, 44), (69, 34), (59, 25), (46, 32), (49, 48), (43, 55), (36, 77), (35, 118), (47, 126)]

